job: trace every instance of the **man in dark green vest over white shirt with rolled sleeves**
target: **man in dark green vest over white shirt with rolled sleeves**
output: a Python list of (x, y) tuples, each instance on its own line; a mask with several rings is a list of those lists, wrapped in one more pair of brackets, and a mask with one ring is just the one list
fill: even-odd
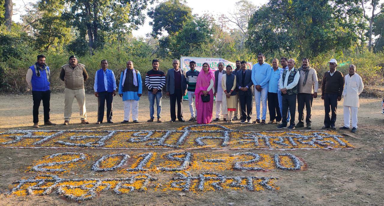
[[(288, 60), (288, 69), (285, 69), (279, 80), (279, 88), (281, 91), (281, 100), (283, 102), (283, 124), (279, 125), (277, 129), (286, 128), (289, 130), (295, 129), (295, 112), (296, 112), (296, 95), (297, 84), (300, 79), (300, 73), (295, 69), (295, 60)], [(288, 108), (291, 113), (290, 125), (287, 127)]]

